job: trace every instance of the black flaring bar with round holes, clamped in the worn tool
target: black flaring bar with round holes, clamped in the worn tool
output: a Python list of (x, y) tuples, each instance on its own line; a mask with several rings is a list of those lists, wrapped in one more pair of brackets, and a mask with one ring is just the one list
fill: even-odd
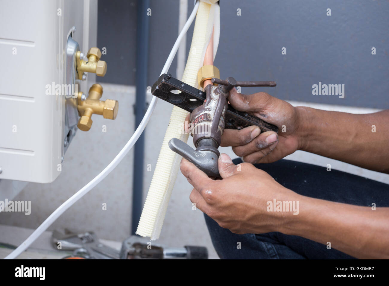
[[(202, 105), (206, 98), (204, 91), (175, 79), (171, 74), (162, 74), (158, 81), (153, 84), (151, 93), (189, 112)], [(225, 128), (227, 129), (240, 130), (248, 126), (256, 125), (261, 128), (261, 132), (274, 131), (278, 133), (277, 126), (267, 123), (247, 112), (237, 111), (230, 104), (228, 104), (225, 120)]]

